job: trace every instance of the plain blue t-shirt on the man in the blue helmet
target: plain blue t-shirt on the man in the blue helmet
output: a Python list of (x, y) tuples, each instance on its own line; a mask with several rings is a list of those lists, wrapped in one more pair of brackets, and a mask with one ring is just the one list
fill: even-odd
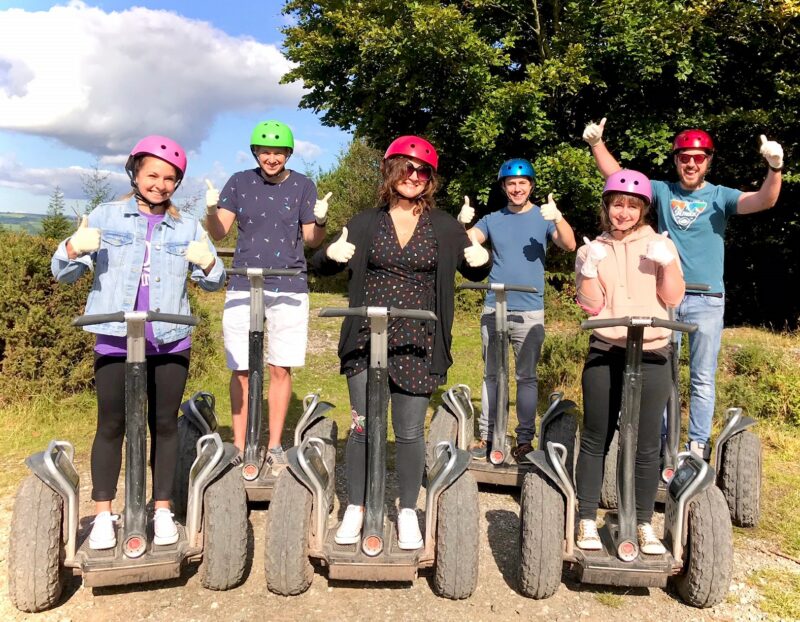
[[(535, 287), (538, 294), (508, 292), (509, 311), (544, 309), (544, 258), (547, 242), (556, 230), (552, 221), (542, 218), (539, 206), (514, 213), (504, 207), (481, 218), (475, 226), (492, 245), (490, 283)], [(493, 291), (486, 292), (486, 306), (493, 307)]]

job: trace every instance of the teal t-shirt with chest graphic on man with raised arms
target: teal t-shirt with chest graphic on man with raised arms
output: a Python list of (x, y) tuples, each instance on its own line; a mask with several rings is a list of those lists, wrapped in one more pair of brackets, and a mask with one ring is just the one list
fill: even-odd
[(725, 291), (725, 227), (736, 213), (741, 190), (706, 183), (689, 192), (677, 182), (653, 181), (653, 207), (659, 231), (669, 231), (681, 256), (687, 283)]

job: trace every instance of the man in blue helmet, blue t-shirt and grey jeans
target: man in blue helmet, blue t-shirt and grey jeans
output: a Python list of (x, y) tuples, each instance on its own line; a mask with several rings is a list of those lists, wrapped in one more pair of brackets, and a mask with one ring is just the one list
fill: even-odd
[[(517, 462), (532, 450), (538, 386), (536, 365), (544, 343), (544, 260), (547, 242), (575, 250), (575, 233), (548, 196), (542, 206), (530, 201), (535, 173), (528, 160), (514, 158), (503, 163), (497, 179), (508, 198), (506, 207), (481, 218), (467, 234), (479, 244), (487, 240), (492, 245), (494, 265), (489, 274), (491, 283), (527, 285), (537, 294), (508, 293), (509, 339), (514, 351), (517, 379), (517, 446), (512, 455)], [(475, 217), (475, 209), (464, 197), (458, 220), (465, 226)], [(486, 293), (481, 315), (484, 376), (481, 392), (481, 416), (478, 422), (480, 438), (472, 443), (472, 455), (485, 459), (491, 449), (489, 440), (494, 424), (497, 389), (494, 348), (490, 335), (494, 332), (494, 292)]]

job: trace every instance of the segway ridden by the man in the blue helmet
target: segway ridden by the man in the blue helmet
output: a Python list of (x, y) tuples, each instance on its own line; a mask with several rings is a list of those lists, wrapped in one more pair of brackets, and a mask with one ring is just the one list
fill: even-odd
[[(511, 437), (508, 434), (508, 304), (506, 292), (535, 294), (536, 288), (525, 285), (503, 283), (463, 283), (460, 289), (492, 290), (495, 295), (495, 328), (490, 335), (497, 370), (497, 392), (495, 398), (495, 420), (489, 421), (491, 451), (486, 460), (471, 456), (469, 470), (476, 481), (501, 486), (522, 485), (525, 473), (531, 465), (518, 463), (511, 455)], [(426, 466), (432, 468), (436, 459), (436, 447), (442, 441), (452, 441), (459, 449), (466, 450), (473, 438), (474, 415), (469, 387), (458, 384), (442, 395), (442, 405), (431, 418), (426, 443)], [(539, 449), (548, 440), (568, 447), (568, 464), (574, 464), (577, 441), (577, 406), (564, 400), (562, 393), (552, 393), (547, 412), (539, 426)], [(534, 417), (536, 413), (534, 413)], [(572, 467), (570, 467), (572, 473)]]

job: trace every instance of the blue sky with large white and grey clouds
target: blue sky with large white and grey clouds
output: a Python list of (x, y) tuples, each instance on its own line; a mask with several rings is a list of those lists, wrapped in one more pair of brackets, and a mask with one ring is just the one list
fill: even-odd
[[(250, 168), (250, 133), (294, 133), (289, 168), (332, 168), (350, 137), (298, 107), (279, 0), (0, 0), (0, 212), (44, 213), (56, 186), (82, 211), (82, 179), (130, 189), (125, 160), (148, 134), (186, 150), (181, 203)], [(198, 209), (201, 209), (199, 206)]]

